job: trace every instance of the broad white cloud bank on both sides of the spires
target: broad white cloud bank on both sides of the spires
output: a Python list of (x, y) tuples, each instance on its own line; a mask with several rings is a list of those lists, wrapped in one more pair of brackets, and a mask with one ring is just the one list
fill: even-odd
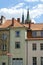
[[(22, 17), (22, 12), (24, 11), (24, 16), (26, 19), (27, 10), (23, 9), (24, 3), (19, 3), (18, 5), (11, 7), (11, 8), (1, 8), (0, 15), (4, 15), (6, 18), (18, 18)], [(26, 6), (28, 8), (28, 6)], [(39, 17), (43, 14), (43, 4), (38, 4), (34, 6), (30, 12), (30, 18), (34, 21), (34, 18)], [(34, 21), (35, 22), (35, 21)]]

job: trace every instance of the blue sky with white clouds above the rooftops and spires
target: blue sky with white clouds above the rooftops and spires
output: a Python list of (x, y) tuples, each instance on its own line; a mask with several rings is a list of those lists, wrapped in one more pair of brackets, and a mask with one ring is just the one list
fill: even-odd
[(43, 23), (43, 0), (0, 0), (0, 18), (3, 15), (6, 19), (24, 18), (29, 9), (30, 19), (35, 23)]

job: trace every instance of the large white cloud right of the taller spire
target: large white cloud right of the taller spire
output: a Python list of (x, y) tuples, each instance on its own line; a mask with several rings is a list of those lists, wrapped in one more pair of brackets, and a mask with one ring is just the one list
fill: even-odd
[(38, 4), (37, 6), (33, 7), (30, 11), (31, 18), (39, 17), (43, 14), (43, 4)]

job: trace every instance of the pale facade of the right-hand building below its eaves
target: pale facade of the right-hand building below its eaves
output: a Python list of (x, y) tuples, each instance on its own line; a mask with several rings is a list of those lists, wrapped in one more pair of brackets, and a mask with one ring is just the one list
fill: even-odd
[(43, 47), (43, 40), (28, 41), (28, 65), (43, 65), (43, 49), (41, 47)]

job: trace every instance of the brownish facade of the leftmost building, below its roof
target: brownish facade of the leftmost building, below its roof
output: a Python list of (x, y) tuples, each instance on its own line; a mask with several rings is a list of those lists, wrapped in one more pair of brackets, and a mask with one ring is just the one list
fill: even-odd
[[(0, 65), (8, 65), (9, 29), (0, 29)], [(6, 62), (6, 63), (5, 63)]]

